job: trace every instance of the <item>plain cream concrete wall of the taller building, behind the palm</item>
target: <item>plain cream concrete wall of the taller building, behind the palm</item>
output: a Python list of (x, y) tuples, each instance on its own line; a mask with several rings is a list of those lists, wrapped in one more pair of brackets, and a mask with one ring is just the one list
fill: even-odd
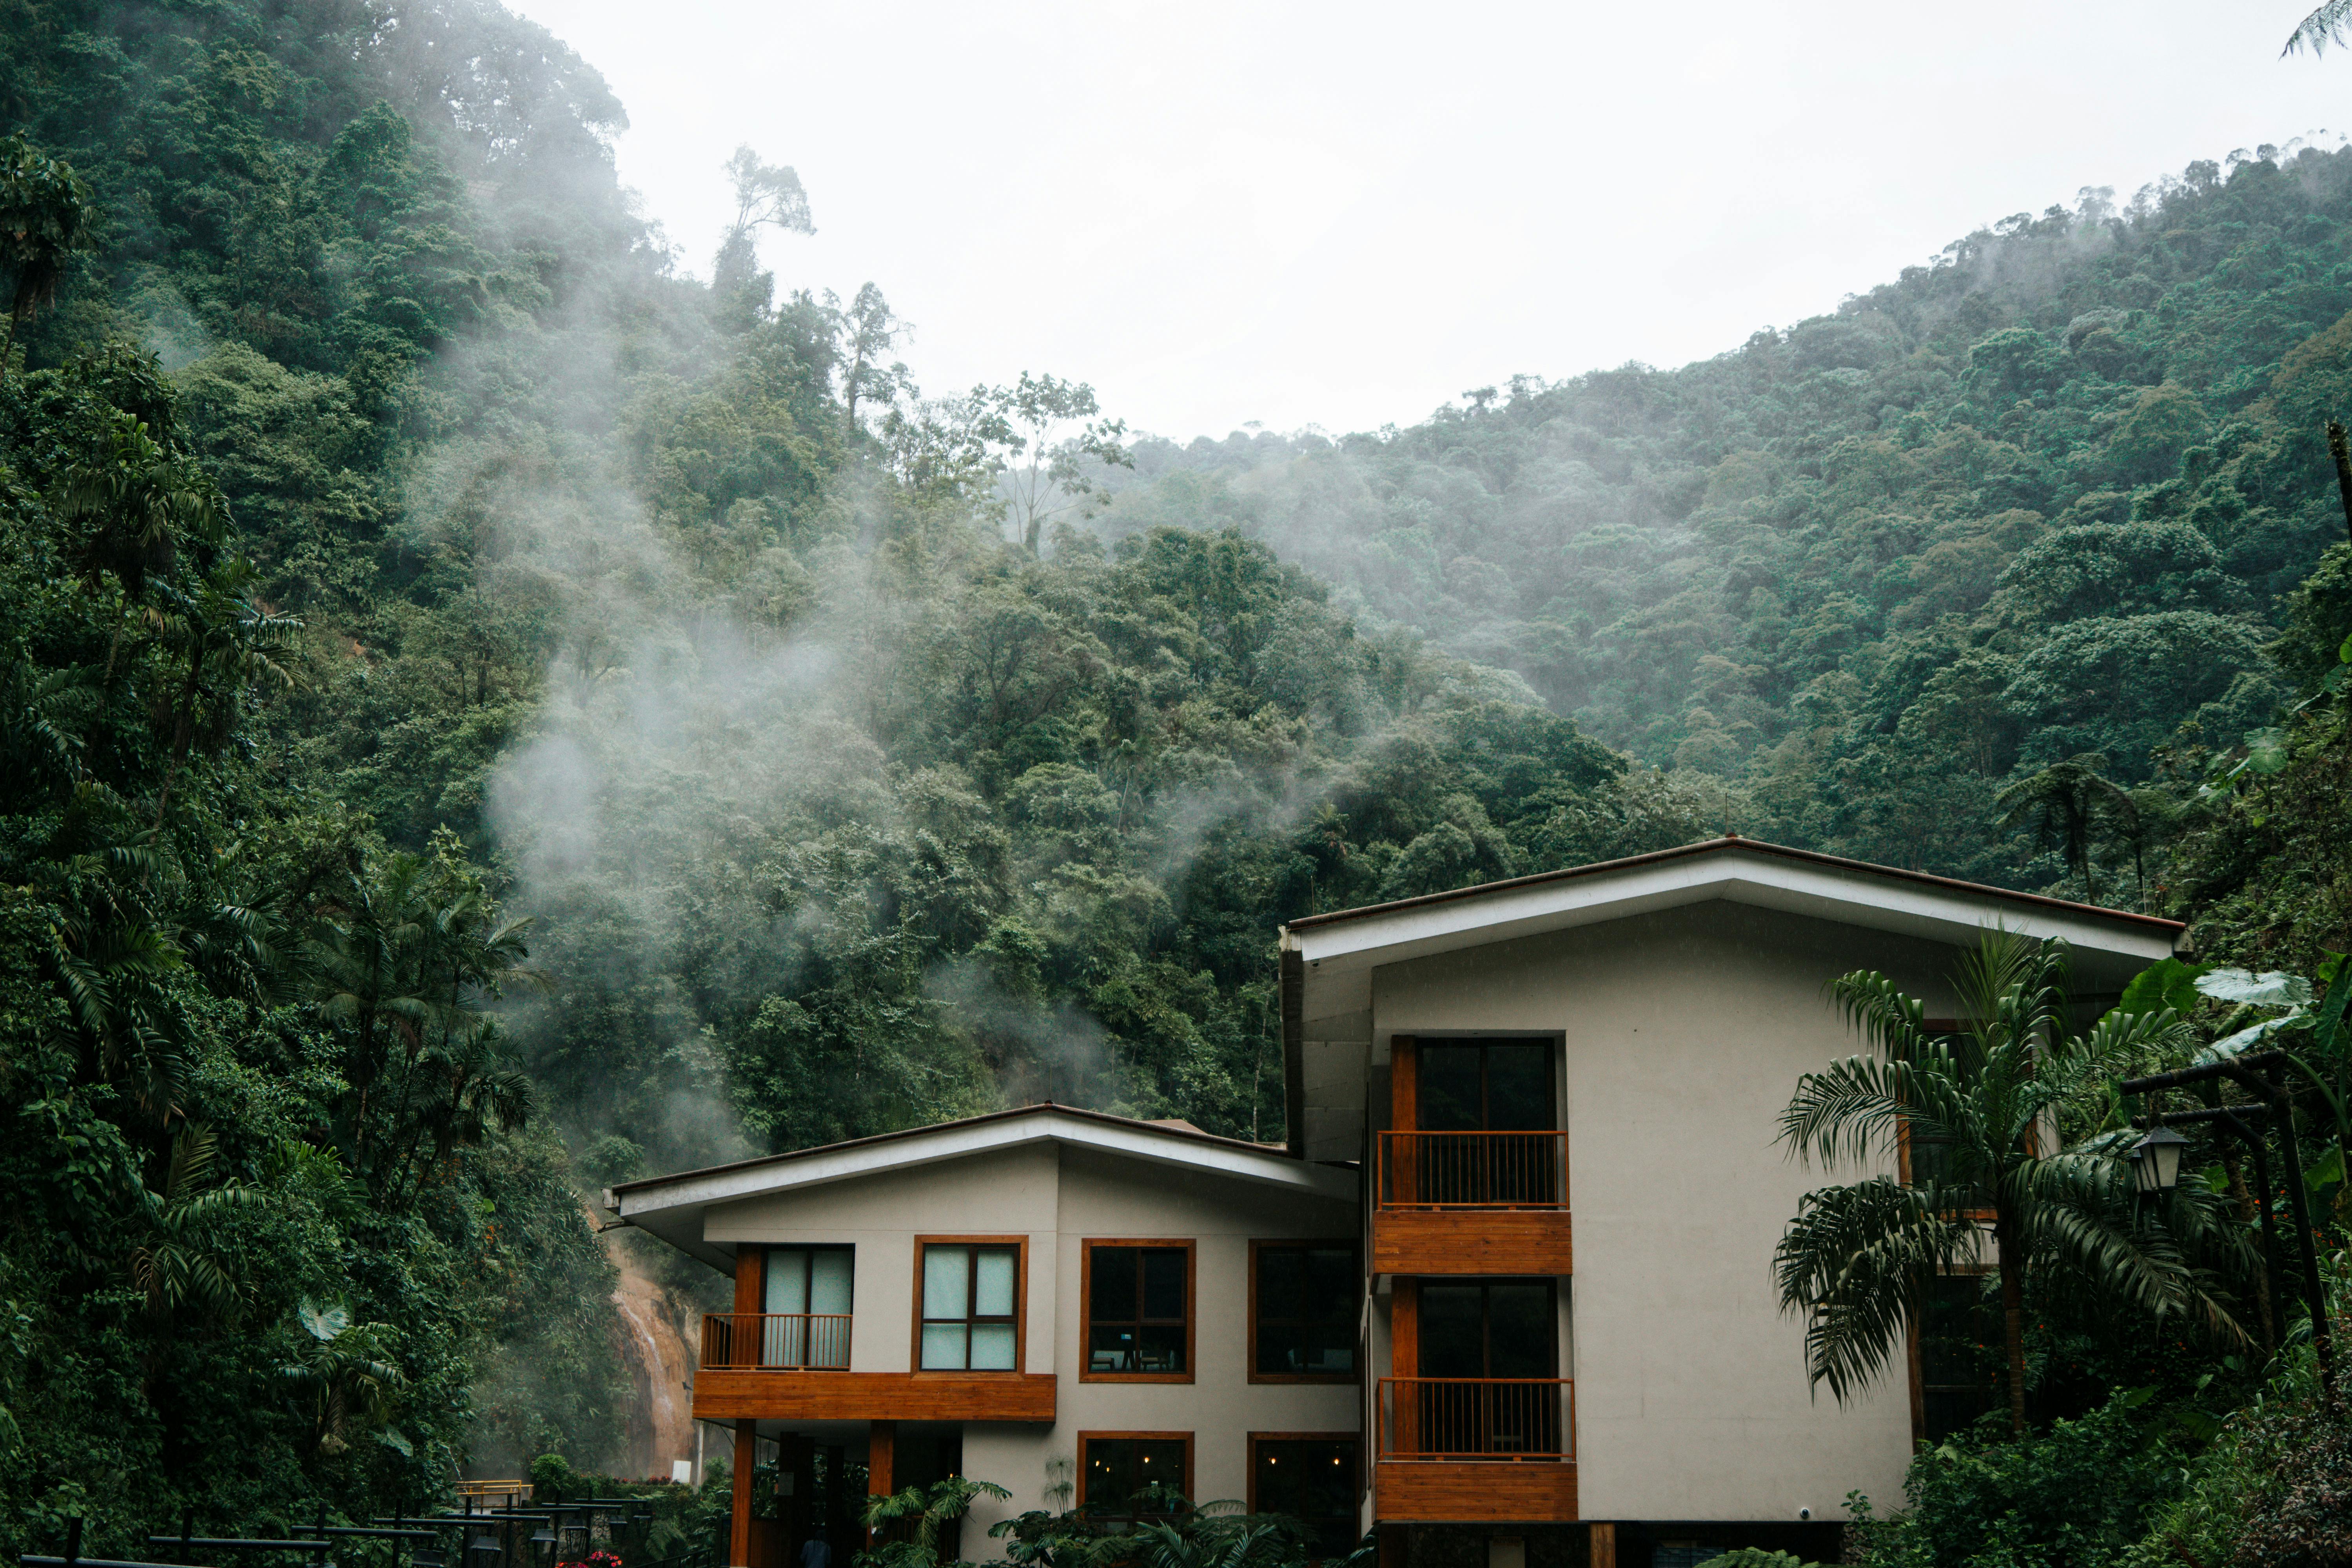
[[(1585, 1519), (1837, 1519), (1851, 1488), (1882, 1509), (1900, 1497), (1900, 1361), (1844, 1408), (1816, 1401), (1802, 1326), (1778, 1309), (1773, 1244), (1832, 1178), (1773, 1138), (1797, 1077), (1856, 1051), (1823, 983), (1882, 969), (1950, 1011), (1955, 957), (1717, 900), (1374, 973), (1376, 1063), (1395, 1034), (1562, 1039), (1576, 1215), (1562, 1366)], [(1385, 1119), (1385, 1095), (1374, 1105)]]

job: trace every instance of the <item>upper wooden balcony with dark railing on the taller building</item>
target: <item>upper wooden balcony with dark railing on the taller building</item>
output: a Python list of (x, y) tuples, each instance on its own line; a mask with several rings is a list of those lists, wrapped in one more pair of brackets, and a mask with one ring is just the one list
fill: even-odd
[(1569, 1274), (1569, 1135), (1381, 1133), (1374, 1274)]

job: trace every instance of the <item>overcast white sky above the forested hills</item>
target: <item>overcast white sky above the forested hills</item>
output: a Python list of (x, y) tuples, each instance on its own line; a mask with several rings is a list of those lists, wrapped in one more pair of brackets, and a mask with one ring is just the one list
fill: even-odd
[(708, 275), (739, 143), (779, 287), (882, 284), (927, 390), (1054, 371), (1174, 437), (1411, 423), (1682, 364), (2004, 214), (2352, 132), (2312, 0), (915, 5), (508, 0), (628, 106)]

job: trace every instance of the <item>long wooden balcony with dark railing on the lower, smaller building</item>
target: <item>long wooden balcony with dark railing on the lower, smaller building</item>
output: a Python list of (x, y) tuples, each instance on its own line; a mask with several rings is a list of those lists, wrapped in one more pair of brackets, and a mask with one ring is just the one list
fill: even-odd
[(849, 1314), (708, 1312), (696, 1420), (1054, 1420), (1051, 1373), (854, 1373)]

